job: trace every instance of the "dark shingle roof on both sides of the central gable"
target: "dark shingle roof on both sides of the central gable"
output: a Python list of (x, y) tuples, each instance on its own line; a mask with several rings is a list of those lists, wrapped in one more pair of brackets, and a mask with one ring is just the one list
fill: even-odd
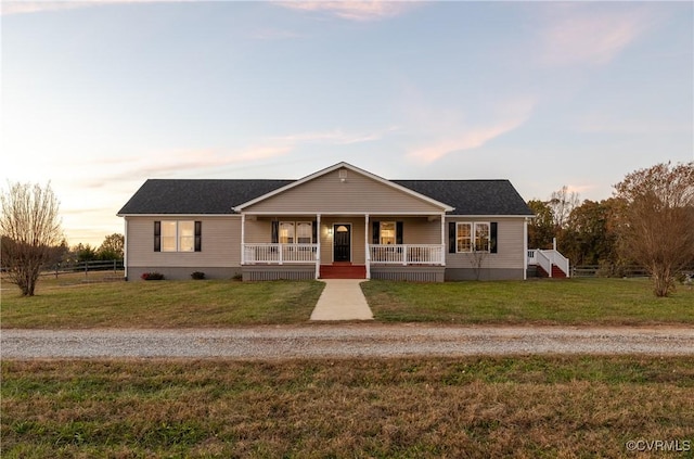
[[(391, 180), (454, 207), (451, 215), (532, 215), (509, 180)], [(118, 215), (223, 215), (294, 180), (150, 179)]]

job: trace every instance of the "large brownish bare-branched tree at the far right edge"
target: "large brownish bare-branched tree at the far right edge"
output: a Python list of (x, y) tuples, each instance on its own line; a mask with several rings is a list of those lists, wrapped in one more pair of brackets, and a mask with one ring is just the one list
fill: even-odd
[(620, 250), (648, 270), (655, 295), (667, 296), (694, 263), (694, 162), (637, 170), (615, 190), (625, 202)]

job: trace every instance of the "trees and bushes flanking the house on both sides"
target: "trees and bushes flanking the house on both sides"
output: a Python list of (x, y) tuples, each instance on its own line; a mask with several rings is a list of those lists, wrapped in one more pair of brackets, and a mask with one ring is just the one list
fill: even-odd
[[(654, 293), (667, 296), (676, 278), (694, 269), (694, 162), (635, 170), (614, 188), (603, 201), (581, 202), (567, 187), (548, 201), (529, 201), (536, 217), (528, 246), (549, 248), (556, 238), (574, 265), (599, 265), (608, 276), (639, 265), (653, 279)], [(13, 183), (0, 205), (3, 276), (23, 295), (34, 295), (40, 270), (56, 263), (123, 258), (125, 238), (117, 233), (98, 248), (67, 247), (50, 183)]]

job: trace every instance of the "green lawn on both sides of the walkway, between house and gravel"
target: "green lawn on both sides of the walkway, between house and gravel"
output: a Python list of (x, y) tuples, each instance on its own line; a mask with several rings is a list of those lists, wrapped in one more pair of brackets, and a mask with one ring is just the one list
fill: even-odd
[[(79, 278), (77, 278), (79, 279)], [(3, 283), (3, 328), (232, 327), (308, 321), (322, 282), (39, 282), (35, 297)], [(694, 323), (694, 290), (656, 298), (643, 279), (362, 284), (377, 321), (645, 326)]]

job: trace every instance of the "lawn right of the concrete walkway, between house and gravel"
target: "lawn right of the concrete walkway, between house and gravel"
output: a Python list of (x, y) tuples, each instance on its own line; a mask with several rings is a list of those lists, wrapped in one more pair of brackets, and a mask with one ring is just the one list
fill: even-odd
[(362, 284), (376, 320), (499, 324), (694, 323), (694, 290), (657, 298), (645, 279)]

